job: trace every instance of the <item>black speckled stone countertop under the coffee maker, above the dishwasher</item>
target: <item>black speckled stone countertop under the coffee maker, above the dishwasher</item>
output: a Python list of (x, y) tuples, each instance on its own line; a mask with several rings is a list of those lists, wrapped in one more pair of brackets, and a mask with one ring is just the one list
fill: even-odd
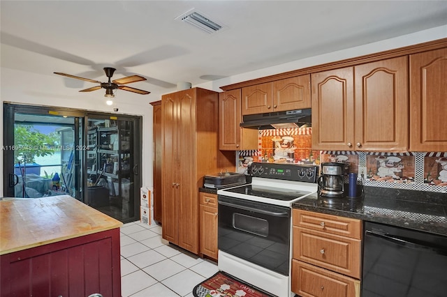
[(363, 187), (360, 197), (325, 198), (312, 195), (293, 208), (447, 236), (447, 194), (392, 188)]

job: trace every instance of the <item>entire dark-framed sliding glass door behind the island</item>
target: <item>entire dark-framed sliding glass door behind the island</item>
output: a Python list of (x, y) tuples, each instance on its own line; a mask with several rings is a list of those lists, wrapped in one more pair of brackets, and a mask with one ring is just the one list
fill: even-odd
[(3, 196), (70, 195), (140, 217), (141, 117), (3, 105)]

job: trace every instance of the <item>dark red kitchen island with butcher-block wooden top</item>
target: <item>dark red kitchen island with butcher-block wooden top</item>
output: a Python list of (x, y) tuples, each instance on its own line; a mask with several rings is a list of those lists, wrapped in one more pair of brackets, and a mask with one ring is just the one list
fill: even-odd
[(121, 296), (122, 222), (70, 197), (0, 200), (0, 296)]

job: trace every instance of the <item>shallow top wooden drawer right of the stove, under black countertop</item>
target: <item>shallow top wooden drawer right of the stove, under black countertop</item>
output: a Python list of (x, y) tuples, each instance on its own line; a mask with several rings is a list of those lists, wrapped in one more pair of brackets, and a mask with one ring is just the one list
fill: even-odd
[(361, 221), (351, 218), (343, 218), (337, 215), (326, 215), (325, 213), (314, 213), (312, 211), (294, 209), (293, 225), (329, 234), (361, 239)]

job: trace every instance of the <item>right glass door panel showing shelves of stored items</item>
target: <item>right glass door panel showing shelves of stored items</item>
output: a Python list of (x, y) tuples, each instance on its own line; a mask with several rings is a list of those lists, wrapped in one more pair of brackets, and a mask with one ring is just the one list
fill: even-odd
[[(137, 217), (135, 206), (135, 123), (126, 119), (88, 119), (87, 195), (89, 206), (117, 220)], [(137, 195), (138, 196), (138, 195)]]

